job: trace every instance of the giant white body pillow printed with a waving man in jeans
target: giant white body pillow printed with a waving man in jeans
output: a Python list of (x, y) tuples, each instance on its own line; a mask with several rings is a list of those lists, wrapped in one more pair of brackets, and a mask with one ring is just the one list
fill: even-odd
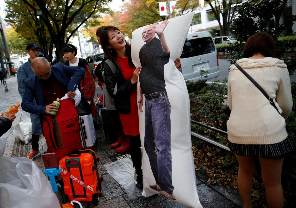
[[(131, 52), (135, 66), (141, 67), (138, 100), (140, 87), (144, 93), (143, 112), (138, 111), (143, 148), (142, 195), (158, 193), (186, 206), (202, 207), (191, 149), (189, 96), (184, 77), (174, 64), (182, 53), (193, 16), (192, 12), (135, 30)], [(154, 37), (158, 27), (164, 27), (162, 38), (169, 54), (163, 39), (156, 40), (157, 34)], [(152, 39), (148, 33), (152, 33)]]

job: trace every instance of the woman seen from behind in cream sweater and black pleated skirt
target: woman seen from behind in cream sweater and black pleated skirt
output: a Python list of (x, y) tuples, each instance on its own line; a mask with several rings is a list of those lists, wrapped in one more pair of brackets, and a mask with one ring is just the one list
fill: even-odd
[(252, 207), (255, 157), (261, 166), (268, 207), (283, 207), (281, 173), (284, 157), (293, 150), (285, 128), (292, 109), (289, 72), (283, 60), (273, 58), (275, 43), (265, 32), (247, 40), (241, 66), (273, 98), (278, 111), (259, 89), (234, 65), (228, 77), (227, 122), (229, 148), (239, 163), (238, 187), (244, 207)]

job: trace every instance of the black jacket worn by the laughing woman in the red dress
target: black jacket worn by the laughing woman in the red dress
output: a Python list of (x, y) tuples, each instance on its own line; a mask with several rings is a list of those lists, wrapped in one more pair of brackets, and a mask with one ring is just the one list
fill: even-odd
[(130, 93), (137, 86), (132, 85), (130, 79), (125, 81), (117, 61), (113, 60), (116, 70), (112, 73), (109, 65), (104, 64), (105, 85), (108, 93), (115, 99), (115, 107), (119, 113), (130, 114)]

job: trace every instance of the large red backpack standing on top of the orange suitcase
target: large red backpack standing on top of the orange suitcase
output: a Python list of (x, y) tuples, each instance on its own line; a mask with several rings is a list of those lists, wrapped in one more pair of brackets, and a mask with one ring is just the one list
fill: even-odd
[(60, 101), (56, 116), (43, 115), (43, 133), (47, 153), (55, 152), (57, 160), (73, 151), (82, 149), (79, 130), (79, 114), (73, 99)]

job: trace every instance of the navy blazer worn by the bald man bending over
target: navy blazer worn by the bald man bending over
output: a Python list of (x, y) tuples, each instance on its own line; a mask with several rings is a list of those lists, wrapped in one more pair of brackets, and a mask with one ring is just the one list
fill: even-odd
[[(67, 87), (67, 91), (75, 91), (85, 70), (78, 66), (65, 66), (59, 62), (51, 67), (51, 73), (61, 85)], [(72, 77), (71, 80), (68, 77)], [(33, 98), (37, 104), (33, 103)], [(29, 113), (42, 115), (45, 114), (45, 108), (41, 82), (36, 76), (32, 76), (25, 81), (22, 109)]]

